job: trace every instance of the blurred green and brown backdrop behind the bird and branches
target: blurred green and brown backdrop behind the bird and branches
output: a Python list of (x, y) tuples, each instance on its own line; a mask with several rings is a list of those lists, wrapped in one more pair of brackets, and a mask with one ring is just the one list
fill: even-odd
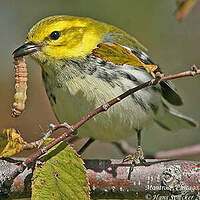
[[(14, 95), (12, 52), (23, 44), (28, 30), (40, 19), (58, 14), (92, 17), (121, 27), (148, 49), (152, 59), (165, 73), (187, 70), (200, 64), (200, 3), (179, 23), (175, 19), (175, 0), (6, 0), (0, 2), (0, 130), (14, 127), (27, 141), (39, 139), (49, 123), (56, 123), (41, 81), (40, 67), (26, 58), (29, 71), (28, 101), (25, 112), (17, 119), (10, 116)], [(199, 65), (200, 66), (200, 65)], [(177, 109), (200, 121), (200, 77), (174, 81), (184, 99)], [(128, 138), (135, 146), (135, 136)], [(146, 130), (143, 145), (154, 153), (200, 141), (200, 128), (172, 134), (156, 125)], [(25, 154), (27, 155), (27, 154)], [(23, 154), (24, 156), (24, 154)], [(111, 144), (91, 145), (87, 158), (119, 158)], [(198, 159), (198, 155), (188, 159)]]

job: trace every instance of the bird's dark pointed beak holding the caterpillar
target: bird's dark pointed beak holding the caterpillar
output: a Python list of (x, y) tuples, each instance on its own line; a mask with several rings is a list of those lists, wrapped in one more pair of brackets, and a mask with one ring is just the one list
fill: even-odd
[(42, 47), (41, 44), (35, 44), (34, 42), (27, 42), (21, 47), (15, 49), (15, 51), (13, 52), (13, 56), (14, 58), (26, 56), (40, 50), (41, 47)]

